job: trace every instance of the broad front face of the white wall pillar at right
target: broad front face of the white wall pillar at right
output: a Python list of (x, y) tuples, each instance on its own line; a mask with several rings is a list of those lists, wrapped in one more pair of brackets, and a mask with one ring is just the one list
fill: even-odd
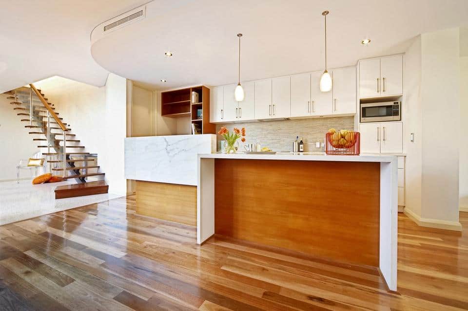
[(458, 222), (459, 29), (421, 35), (421, 217)]

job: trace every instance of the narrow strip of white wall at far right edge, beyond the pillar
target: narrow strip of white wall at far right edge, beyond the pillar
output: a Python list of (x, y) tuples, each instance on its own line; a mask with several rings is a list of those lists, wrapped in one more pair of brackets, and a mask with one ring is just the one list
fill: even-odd
[[(460, 57), (460, 120), (460, 132), (468, 133), (468, 56)], [(460, 209), (468, 212), (467, 143), (460, 144)]]

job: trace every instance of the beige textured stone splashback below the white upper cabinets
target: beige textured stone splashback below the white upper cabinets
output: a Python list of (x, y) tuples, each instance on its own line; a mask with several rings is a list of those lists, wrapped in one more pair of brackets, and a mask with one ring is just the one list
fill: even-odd
[[(234, 127), (239, 129), (244, 127), (247, 134), (246, 144), (254, 144), (258, 139), (262, 147), (270, 147), (273, 151), (292, 151), (292, 142), (296, 136), (299, 138), (302, 136), (304, 151), (316, 152), (322, 149), (315, 148), (315, 142), (323, 142), (329, 128), (353, 129), (354, 119), (353, 117), (336, 117), (217, 124), (216, 132), (222, 126), (229, 130)], [(217, 140), (219, 142), (223, 140), (223, 137), (217, 135)], [(217, 145), (219, 146), (219, 143)], [(239, 146), (242, 149), (243, 143), (240, 140)]]

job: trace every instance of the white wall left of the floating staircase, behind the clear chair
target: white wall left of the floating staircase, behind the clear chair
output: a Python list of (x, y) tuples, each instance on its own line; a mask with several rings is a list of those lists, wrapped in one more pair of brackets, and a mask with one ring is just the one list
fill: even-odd
[[(13, 110), (13, 105), (10, 105), (13, 100), (7, 99), (8, 96), (11, 95), (0, 94), (0, 182), (15, 180), (16, 165), (20, 160), (28, 159), (39, 152), (38, 143), (33, 142), (36, 136), (28, 134), (30, 129), (24, 128), (29, 123), (20, 122), (22, 118), (28, 117), (17, 115), (19, 110)], [(30, 177), (28, 170), (21, 170), (20, 178)]]

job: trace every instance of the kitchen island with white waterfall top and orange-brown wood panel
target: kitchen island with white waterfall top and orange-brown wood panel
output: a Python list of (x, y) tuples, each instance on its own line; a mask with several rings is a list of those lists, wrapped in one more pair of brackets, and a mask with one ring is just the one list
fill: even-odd
[(197, 243), (215, 234), (380, 269), (396, 290), (397, 158), (199, 154)]

